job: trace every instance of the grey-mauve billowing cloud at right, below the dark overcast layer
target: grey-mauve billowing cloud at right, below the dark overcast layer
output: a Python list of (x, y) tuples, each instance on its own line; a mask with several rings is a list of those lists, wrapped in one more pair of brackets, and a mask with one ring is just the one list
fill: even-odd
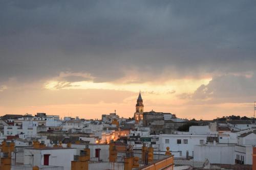
[(214, 77), (194, 93), (183, 93), (179, 98), (190, 99), (192, 103), (250, 103), (256, 99), (255, 83), (255, 74), (228, 74)]

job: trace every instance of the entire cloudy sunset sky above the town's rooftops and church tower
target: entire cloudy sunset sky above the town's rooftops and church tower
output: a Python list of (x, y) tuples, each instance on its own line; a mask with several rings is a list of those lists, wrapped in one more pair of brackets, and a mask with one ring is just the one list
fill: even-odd
[(256, 2), (0, 1), (0, 115), (253, 116)]

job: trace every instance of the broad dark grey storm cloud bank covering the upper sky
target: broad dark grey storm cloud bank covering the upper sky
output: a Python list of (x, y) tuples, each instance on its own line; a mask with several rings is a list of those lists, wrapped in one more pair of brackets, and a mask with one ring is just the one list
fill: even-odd
[(255, 1), (1, 1), (0, 82), (255, 71), (255, 16)]

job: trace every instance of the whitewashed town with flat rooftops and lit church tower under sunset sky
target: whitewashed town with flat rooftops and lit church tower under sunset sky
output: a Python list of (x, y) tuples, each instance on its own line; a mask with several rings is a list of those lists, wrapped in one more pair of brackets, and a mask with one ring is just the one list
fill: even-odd
[(144, 111), (142, 95), (132, 118), (113, 113), (83, 119), (36, 113), (0, 119), (1, 170), (252, 169), (253, 118), (188, 120)]

